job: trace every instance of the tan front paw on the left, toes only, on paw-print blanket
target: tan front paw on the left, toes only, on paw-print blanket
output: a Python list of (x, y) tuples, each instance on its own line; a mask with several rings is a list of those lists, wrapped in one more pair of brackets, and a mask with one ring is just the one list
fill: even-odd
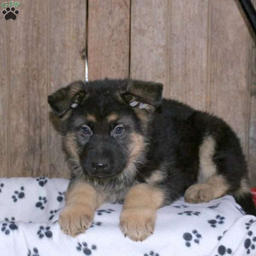
[(60, 213), (59, 224), (64, 233), (76, 236), (90, 227), (93, 215), (93, 209), (86, 204), (71, 204)]

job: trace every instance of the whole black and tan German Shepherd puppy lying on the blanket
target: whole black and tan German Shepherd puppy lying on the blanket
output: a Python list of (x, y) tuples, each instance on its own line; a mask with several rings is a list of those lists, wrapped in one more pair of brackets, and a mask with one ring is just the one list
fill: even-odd
[(238, 137), (220, 118), (175, 100), (163, 85), (136, 80), (76, 81), (49, 96), (61, 117), (72, 164), (59, 224), (76, 236), (103, 202), (123, 202), (122, 233), (142, 241), (157, 209), (233, 195), (256, 215)]

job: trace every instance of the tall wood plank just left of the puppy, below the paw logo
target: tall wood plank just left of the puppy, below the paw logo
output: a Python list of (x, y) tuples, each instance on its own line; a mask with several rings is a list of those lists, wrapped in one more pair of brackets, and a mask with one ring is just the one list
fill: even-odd
[(10, 34), (9, 176), (47, 170), (47, 2), (20, 1)]

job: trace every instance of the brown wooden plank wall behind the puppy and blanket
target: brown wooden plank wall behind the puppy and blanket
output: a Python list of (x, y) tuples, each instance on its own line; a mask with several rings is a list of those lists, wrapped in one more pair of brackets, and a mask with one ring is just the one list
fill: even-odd
[[(162, 82), (164, 96), (223, 117), (256, 186), (254, 38), (236, 0), (20, 0), (0, 19), (0, 175), (68, 177), (47, 95), (84, 79)], [(54, 124), (54, 125), (53, 125)]]

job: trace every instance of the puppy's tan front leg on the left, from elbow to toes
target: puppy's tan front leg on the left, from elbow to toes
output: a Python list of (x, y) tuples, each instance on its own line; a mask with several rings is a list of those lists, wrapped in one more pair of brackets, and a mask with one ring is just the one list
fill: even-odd
[(66, 206), (60, 213), (59, 224), (64, 233), (76, 236), (90, 227), (94, 212), (104, 199), (93, 186), (82, 181), (72, 183), (65, 198)]

